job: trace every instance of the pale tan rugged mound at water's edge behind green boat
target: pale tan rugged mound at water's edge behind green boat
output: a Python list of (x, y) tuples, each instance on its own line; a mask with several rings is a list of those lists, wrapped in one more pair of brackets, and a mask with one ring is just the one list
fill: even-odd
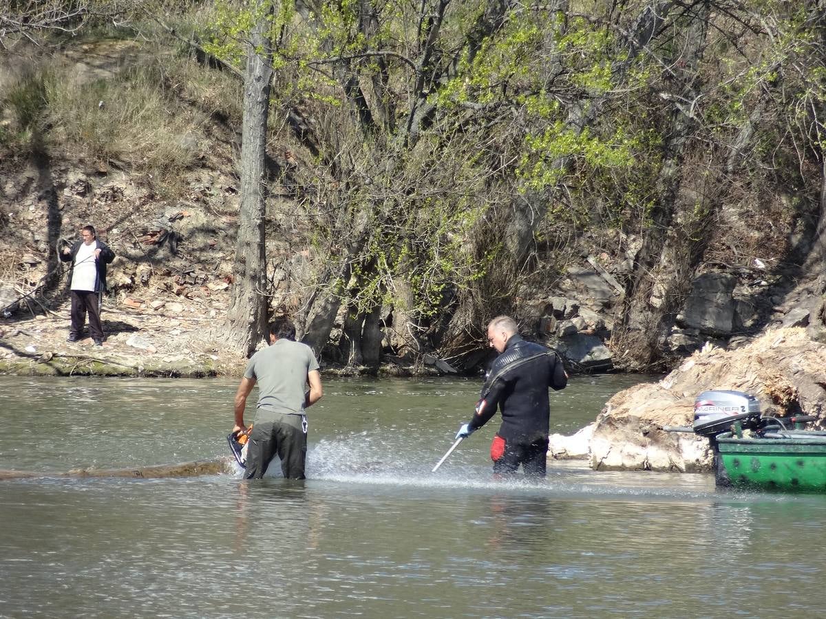
[[(694, 434), (667, 432), (691, 426), (694, 401), (705, 390), (737, 390), (754, 395), (764, 415), (814, 415), (826, 419), (826, 346), (803, 328), (779, 328), (733, 350), (706, 346), (657, 383), (635, 385), (613, 396), (596, 418), (590, 437), (583, 432), (591, 468), (596, 470), (709, 470), (708, 441)], [(554, 453), (577, 455), (576, 447), (552, 441)]]

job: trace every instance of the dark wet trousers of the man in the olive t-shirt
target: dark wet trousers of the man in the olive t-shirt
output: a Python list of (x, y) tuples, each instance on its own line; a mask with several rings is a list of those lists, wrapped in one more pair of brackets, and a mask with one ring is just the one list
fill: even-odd
[(306, 417), (282, 414), (273, 422), (256, 421), (249, 434), (246, 472), (248, 480), (260, 480), (269, 463), (278, 455), (288, 480), (303, 480), (307, 455)]

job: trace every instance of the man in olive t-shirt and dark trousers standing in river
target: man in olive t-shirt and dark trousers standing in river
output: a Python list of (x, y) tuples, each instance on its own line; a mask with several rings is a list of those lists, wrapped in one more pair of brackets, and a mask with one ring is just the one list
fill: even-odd
[[(253, 386), (259, 385), (253, 431), (249, 435), (246, 473), (258, 480), (278, 454), (284, 477), (304, 479), (307, 421), (304, 409), (321, 399), (321, 376), (311, 347), (294, 341), (296, 328), (288, 319), (269, 325), (269, 346), (247, 364), (235, 393), (235, 428), (243, 430), (244, 409)], [(310, 390), (305, 392), (307, 383)]]

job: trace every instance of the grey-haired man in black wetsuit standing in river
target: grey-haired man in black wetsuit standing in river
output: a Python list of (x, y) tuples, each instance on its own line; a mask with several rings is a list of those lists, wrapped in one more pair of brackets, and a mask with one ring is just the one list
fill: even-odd
[(510, 316), (491, 320), (487, 341), (500, 354), (487, 374), (476, 414), (459, 428), (456, 438), (482, 428), (498, 406), (502, 424), (491, 443), (494, 474), (515, 473), (522, 465), (525, 475), (544, 477), (551, 413), (548, 387), (564, 389), (565, 368), (556, 352), (522, 339)]

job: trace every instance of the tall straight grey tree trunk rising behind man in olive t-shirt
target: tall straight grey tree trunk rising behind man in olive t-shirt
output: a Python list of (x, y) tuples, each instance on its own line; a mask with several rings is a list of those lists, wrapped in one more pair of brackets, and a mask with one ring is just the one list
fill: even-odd
[(241, 130), (240, 222), (233, 273), (235, 276), (226, 317), (225, 341), (235, 352), (249, 356), (267, 328), (267, 262), (264, 215), (267, 184), (265, 154), (270, 83), (268, 16), (272, 6), (260, 0), (259, 19), (250, 33), (244, 73), (244, 120)]

